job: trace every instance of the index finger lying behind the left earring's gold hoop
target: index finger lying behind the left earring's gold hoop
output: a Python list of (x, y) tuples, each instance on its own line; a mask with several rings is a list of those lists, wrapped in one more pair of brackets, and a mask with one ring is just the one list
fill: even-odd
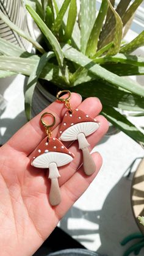
[[(65, 95), (67, 97), (67, 95)], [(77, 108), (81, 104), (81, 95), (77, 93), (71, 93), (70, 103), (73, 108)], [(56, 117), (56, 127), (62, 120), (63, 114), (67, 111), (65, 104), (60, 101), (54, 101), (50, 104), (48, 108), (40, 112), (34, 119), (26, 123), (17, 133), (15, 133), (12, 138), (7, 142), (11, 147), (15, 148), (20, 152), (29, 155), (38, 143), (46, 136), (43, 127), (40, 125), (40, 117), (43, 112), (51, 112)]]

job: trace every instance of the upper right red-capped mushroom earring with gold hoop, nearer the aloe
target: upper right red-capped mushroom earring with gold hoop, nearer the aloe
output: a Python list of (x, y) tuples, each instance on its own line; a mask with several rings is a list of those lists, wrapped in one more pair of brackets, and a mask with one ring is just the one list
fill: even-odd
[[(60, 98), (63, 92), (68, 93), (67, 98)], [(99, 128), (99, 123), (80, 109), (71, 109), (70, 90), (62, 90), (57, 93), (56, 97), (57, 100), (65, 103), (68, 109), (63, 117), (62, 125), (60, 126), (59, 139), (60, 141), (75, 141), (77, 139), (79, 149), (82, 150), (84, 172), (86, 175), (91, 175), (95, 172), (96, 165), (88, 150), (90, 144), (86, 137)]]

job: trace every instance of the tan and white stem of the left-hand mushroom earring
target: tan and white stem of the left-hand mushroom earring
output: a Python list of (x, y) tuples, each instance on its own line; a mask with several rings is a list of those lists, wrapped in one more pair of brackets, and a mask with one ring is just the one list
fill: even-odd
[(58, 178), (60, 177), (56, 163), (49, 164), (49, 178), (51, 179), (51, 189), (49, 192), (49, 202), (51, 205), (59, 205), (61, 201)]

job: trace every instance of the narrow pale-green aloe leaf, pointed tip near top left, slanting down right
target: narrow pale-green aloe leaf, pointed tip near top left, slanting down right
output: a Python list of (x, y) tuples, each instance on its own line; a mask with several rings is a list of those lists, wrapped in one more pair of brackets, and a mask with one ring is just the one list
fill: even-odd
[(45, 37), (48, 39), (49, 43), (52, 46), (52, 49), (54, 50), (54, 53), (56, 54), (57, 57), (57, 62), (59, 63), (59, 66), (62, 70), (63, 75), (65, 76), (65, 79), (67, 80), (68, 78), (65, 75), (65, 66), (63, 64), (63, 53), (62, 49), (60, 48), (60, 44), (57, 41), (57, 38), (52, 34), (50, 29), (46, 26), (46, 24), (41, 20), (40, 16), (35, 12), (34, 9), (31, 8), (31, 6), (26, 5), (26, 9), (29, 11), (31, 14), (32, 18), (34, 21), (37, 23), (38, 27), (40, 27), (41, 32), (45, 35)]

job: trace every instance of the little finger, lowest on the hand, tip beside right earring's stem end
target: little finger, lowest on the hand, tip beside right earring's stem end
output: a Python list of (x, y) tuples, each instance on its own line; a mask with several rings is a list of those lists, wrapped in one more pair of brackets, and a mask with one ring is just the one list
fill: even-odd
[(63, 215), (70, 209), (79, 197), (85, 192), (90, 183), (94, 180), (101, 169), (103, 159), (99, 153), (92, 154), (93, 160), (97, 166), (94, 174), (86, 176), (81, 167), (61, 188), (62, 202), (55, 207), (57, 218), (61, 219)]

